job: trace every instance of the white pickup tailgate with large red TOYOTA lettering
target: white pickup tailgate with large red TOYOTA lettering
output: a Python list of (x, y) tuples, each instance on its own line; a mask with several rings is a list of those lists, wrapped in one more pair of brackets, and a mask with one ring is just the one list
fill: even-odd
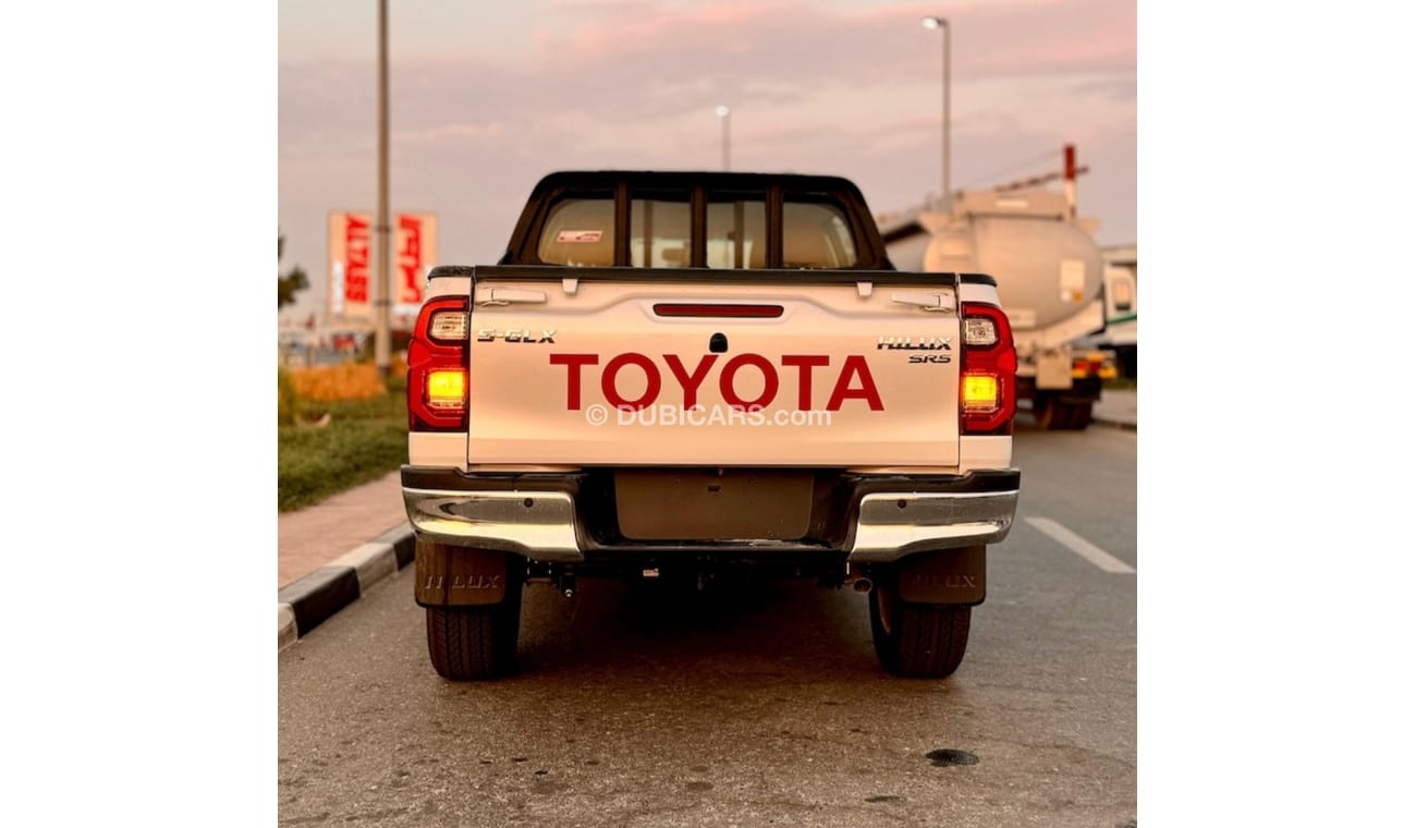
[(469, 463), (957, 464), (952, 275), (742, 273), (479, 268)]

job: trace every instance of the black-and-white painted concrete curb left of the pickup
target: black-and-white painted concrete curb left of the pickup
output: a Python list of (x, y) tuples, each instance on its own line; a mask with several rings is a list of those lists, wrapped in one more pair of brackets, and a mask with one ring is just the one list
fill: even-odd
[(412, 562), (413, 528), (404, 524), (287, 585), (276, 599), (278, 650), (309, 634)]

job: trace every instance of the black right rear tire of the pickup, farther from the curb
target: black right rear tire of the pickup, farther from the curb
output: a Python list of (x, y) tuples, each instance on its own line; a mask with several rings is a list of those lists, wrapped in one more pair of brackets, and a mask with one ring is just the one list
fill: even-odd
[(905, 678), (944, 678), (959, 669), (969, 647), (973, 607), (912, 604), (893, 585), (871, 589), (871, 638), (881, 667)]

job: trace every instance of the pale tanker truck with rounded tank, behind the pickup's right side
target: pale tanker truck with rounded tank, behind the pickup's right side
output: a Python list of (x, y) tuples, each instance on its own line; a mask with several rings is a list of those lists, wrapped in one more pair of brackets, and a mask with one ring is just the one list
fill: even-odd
[(1095, 222), (1073, 212), (1058, 192), (986, 190), (956, 194), (949, 212), (877, 219), (895, 268), (998, 280), (1018, 348), (1018, 399), (1031, 401), (1044, 429), (1085, 429), (1102, 381), (1116, 376), (1113, 352), (1075, 344), (1106, 328), (1106, 294)]

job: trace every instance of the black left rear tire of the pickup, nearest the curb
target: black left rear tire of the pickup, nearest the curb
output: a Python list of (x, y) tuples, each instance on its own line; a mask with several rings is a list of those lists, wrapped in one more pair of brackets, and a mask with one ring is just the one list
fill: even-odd
[(521, 579), (508, 579), (507, 596), (500, 604), (426, 607), (426, 611), (428, 655), (438, 675), (476, 681), (515, 672)]

